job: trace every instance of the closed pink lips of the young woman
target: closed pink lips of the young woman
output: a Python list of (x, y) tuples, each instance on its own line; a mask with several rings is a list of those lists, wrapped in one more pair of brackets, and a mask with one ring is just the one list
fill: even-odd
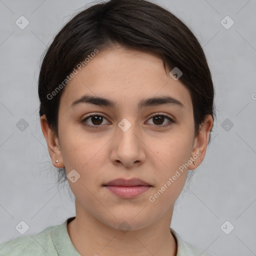
[(117, 178), (110, 180), (106, 184), (103, 184), (103, 186), (113, 194), (122, 198), (136, 197), (152, 187), (150, 184), (139, 178)]

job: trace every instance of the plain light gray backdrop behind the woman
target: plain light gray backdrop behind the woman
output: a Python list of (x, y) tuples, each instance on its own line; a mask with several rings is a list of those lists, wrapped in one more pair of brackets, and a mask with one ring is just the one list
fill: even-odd
[[(37, 78), (46, 45), (88, 2), (0, 0), (0, 241), (21, 235), (15, 229), (21, 220), (26, 235), (75, 215), (68, 185), (56, 184), (40, 129)], [(181, 18), (203, 46), (218, 116), (171, 227), (214, 256), (256, 255), (256, 0), (155, 2)], [(24, 29), (15, 24), (21, 15), (29, 21)], [(220, 22), (226, 15), (234, 21), (229, 29)], [(28, 123), (23, 131), (16, 126), (21, 118)], [(226, 220), (234, 226), (229, 234), (220, 228)]]

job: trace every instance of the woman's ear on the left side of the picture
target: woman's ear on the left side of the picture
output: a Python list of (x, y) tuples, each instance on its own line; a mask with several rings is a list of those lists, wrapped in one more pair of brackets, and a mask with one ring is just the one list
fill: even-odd
[[(64, 167), (63, 158), (60, 151), (60, 144), (57, 136), (52, 131), (49, 126), (45, 114), (40, 118), (42, 133), (46, 139), (49, 155), (52, 161), (52, 164), (57, 168)], [(56, 162), (58, 160), (58, 162)]]

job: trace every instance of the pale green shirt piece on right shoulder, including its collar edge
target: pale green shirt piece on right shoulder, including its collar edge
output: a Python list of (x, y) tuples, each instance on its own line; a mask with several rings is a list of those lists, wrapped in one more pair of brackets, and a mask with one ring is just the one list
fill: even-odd
[(204, 250), (199, 249), (193, 246), (192, 244), (183, 241), (181, 237), (172, 228), (170, 228), (170, 231), (177, 242), (176, 256), (212, 256), (211, 254), (205, 252)]

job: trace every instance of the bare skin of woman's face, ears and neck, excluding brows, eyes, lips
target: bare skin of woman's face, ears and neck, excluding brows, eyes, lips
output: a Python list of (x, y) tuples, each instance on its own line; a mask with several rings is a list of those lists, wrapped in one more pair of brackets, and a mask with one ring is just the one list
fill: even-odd
[[(71, 107), (84, 94), (111, 99), (117, 107)], [(140, 99), (166, 95), (175, 97), (184, 107), (166, 104), (138, 111)], [(175, 122), (160, 127), (169, 120), (157, 122), (152, 115), (158, 112)], [(89, 113), (105, 117), (101, 124), (93, 118), (84, 121), (94, 126), (99, 123), (101, 128), (82, 123)], [(127, 131), (118, 127), (123, 118), (131, 124)], [(207, 115), (198, 136), (194, 136), (189, 91), (181, 81), (166, 75), (159, 57), (118, 44), (100, 50), (64, 88), (58, 137), (45, 116), (40, 121), (52, 164), (65, 166), (67, 175), (72, 169), (80, 174), (74, 183), (68, 179), (75, 196), (76, 217), (67, 225), (67, 231), (81, 255), (176, 255), (177, 245), (169, 227), (187, 169), (153, 202), (148, 198), (198, 151), (201, 154), (195, 160), (196, 166), (191, 163), (188, 169), (201, 163), (213, 120)], [(134, 198), (120, 198), (102, 186), (119, 177), (138, 177), (151, 187)], [(126, 233), (118, 228), (123, 221), (130, 225)]]

